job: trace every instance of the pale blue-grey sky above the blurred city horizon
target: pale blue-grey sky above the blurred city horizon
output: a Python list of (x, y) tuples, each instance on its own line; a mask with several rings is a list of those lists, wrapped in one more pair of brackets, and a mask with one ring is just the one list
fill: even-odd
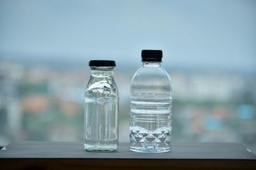
[[(256, 70), (256, 1), (0, 1), (0, 57)], [(121, 65), (122, 65), (121, 64)]]

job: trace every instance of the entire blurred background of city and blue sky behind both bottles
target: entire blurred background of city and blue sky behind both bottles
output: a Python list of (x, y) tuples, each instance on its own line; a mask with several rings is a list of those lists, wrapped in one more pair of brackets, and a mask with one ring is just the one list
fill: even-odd
[[(0, 1), (0, 146), (83, 141), (91, 59), (116, 60), (120, 142), (142, 49), (163, 50), (173, 142), (256, 152), (256, 1)], [(83, 146), (81, 145), (81, 148)]]

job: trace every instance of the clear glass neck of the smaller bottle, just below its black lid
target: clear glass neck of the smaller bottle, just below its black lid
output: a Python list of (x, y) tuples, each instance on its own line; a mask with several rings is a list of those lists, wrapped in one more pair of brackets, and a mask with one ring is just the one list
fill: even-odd
[(91, 67), (91, 76), (97, 78), (104, 78), (113, 76), (114, 67)]

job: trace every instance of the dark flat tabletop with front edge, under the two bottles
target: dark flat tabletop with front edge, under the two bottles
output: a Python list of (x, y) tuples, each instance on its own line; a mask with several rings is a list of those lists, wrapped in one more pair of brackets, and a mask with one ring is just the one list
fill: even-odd
[(22, 141), (0, 150), (0, 169), (256, 169), (239, 143), (173, 143), (168, 153), (85, 152), (83, 143)]

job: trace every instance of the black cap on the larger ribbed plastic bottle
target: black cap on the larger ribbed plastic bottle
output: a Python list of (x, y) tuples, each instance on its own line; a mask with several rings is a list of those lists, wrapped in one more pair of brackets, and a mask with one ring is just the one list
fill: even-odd
[(162, 50), (142, 50), (141, 61), (162, 62)]

